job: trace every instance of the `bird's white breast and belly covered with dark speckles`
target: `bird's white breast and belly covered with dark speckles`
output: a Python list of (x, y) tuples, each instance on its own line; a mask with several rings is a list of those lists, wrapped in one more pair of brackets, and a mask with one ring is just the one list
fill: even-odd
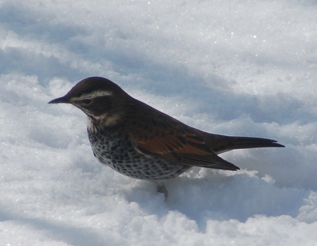
[(190, 168), (137, 152), (129, 136), (120, 131), (88, 125), (87, 132), (98, 160), (126, 176), (142, 180), (163, 180), (175, 178)]

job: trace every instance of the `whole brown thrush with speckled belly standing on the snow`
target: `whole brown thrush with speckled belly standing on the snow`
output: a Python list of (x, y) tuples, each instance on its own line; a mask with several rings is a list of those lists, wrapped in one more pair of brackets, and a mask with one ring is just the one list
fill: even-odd
[(126, 176), (151, 180), (168, 191), (164, 180), (191, 167), (236, 171), (219, 154), (233, 149), (285, 147), (260, 137), (225, 136), (188, 126), (131, 97), (103, 77), (82, 79), (49, 104), (72, 104), (87, 115), (87, 134), (98, 160)]

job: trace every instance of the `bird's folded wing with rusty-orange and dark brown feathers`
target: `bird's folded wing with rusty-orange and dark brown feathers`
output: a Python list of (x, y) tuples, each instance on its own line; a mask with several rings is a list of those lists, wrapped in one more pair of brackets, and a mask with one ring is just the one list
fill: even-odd
[(143, 155), (190, 166), (235, 171), (240, 169), (211, 150), (195, 129), (173, 118), (152, 121), (147, 125), (134, 125), (128, 131), (135, 148)]

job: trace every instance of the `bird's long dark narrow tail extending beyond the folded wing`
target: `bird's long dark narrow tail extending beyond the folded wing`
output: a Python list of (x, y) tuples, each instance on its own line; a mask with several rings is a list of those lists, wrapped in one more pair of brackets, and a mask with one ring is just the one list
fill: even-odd
[(223, 136), (223, 145), (219, 144), (213, 151), (217, 154), (241, 148), (267, 148), (267, 147), (285, 147), (277, 143), (276, 140), (261, 137), (233, 137)]

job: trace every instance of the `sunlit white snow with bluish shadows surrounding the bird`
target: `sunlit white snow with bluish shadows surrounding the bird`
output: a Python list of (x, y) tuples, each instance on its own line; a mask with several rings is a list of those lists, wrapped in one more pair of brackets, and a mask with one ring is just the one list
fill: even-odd
[[(316, 245), (317, 5), (300, 0), (0, 2), (1, 245)], [(47, 102), (88, 76), (212, 133), (286, 148), (148, 181), (94, 159)]]

